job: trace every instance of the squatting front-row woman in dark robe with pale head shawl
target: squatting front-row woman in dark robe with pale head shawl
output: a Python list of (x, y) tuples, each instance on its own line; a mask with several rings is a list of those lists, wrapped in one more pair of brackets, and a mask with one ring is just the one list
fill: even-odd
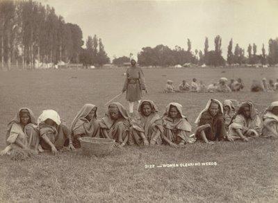
[(197, 140), (213, 144), (213, 141), (221, 141), (227, 137), (223, 107), (219, 100), (208, 100), (206, 107), (199, 114), (195, 123), (198, 125), (195, 133)]

